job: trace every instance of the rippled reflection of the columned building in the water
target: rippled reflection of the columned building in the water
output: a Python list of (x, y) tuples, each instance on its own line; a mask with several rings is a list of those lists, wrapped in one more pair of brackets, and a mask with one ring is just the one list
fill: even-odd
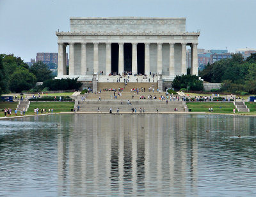
[(140, 114), (72, 119), (58, 130), (60, 196), (197, 195), (200, 119)]

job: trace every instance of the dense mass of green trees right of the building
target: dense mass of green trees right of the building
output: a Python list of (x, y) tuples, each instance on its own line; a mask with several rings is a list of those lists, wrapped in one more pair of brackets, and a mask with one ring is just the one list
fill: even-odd
[(206, 82), (221, 83), (220, 91), (256, 94), (256, 54), (243, 59), (241, 54), (207, 64), (199, 77)]

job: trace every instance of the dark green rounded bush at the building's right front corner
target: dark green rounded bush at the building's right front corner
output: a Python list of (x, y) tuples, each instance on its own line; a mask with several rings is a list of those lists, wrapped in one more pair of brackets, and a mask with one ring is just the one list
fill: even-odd
[(202, 91), (204, 89), (202, 80), (196, 75), (177, 75), (172, 82), (172, 87), (175, 89), (187, 89), (189, 87), (191, 91)]

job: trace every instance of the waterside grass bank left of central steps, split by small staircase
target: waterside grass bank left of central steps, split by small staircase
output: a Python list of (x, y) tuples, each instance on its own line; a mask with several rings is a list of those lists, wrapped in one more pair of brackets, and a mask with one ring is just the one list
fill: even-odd
[[(74, 108), (74, 102), (30, 102), (28, 112), (26, 115), (34, 114), (34, 108), (45, 108), (48, 112), (48, 109), (53, 108), (54, 113), (58, 112), (70, 112)], [(18, 102), (0, 102), (0, 109), (12, 108), (12, 116), (15, 115), (14, 110), (17, 108)], [(41, 113), (41, 112), (39, 112)], [(20, 115), (20, 112), (17, 113)], [(4, 117), (4, 112), (0, 113), (0, 117)]]

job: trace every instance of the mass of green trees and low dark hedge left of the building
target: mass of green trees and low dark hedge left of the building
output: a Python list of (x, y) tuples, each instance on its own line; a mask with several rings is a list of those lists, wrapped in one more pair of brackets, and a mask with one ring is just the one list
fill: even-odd
[[(53, 80), (52, 71), (43, 62), (28, 66), (13, 54), (0, 54), (0, 95), (9, 92), (78, 89), (76, 79)], [(44, 82), (35, 86), (36, 82)]]

